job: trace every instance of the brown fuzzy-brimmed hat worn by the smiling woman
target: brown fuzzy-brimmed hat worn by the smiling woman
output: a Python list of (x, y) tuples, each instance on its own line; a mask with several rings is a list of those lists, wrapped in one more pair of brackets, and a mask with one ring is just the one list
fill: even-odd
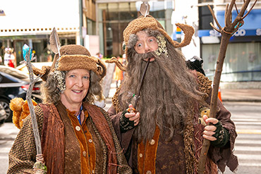
[(54, 70), (58, 59), (56, 70), (66, 71), (75, 69), (92, 70), (101, 79), (106, 75), (107, 68), (99, 58), (90, 56), (90, 52), (81, 45), (64, 45), (60, 49), (61, 57), (56, 54), (52, 66), (43, 66), (42, 70), (33, 67), (35, 75), (42, 75), (42, 80), (47, 80), (49, 72)]

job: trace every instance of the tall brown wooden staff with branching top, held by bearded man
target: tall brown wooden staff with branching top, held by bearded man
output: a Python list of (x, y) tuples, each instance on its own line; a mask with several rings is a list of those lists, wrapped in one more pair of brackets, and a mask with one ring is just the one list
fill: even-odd
[[(257, 0), (255, 0), (253, 6), (251, 6), (250, 11), (255, 6)], [(212, 11), (212, 8), (208, 6), (210, 9), (210, 12), (214, 18), (214, 21), (217, 23), (217, 27), (215, 27), (212, 23), (210, 25), (216, 30), (217, 32), (221, 33), (221, 43), (219, 48), (219, 56), (217, 58), (217, 68), (214, 73), (214, 82), (213, 82), (213, 89), (212, 89), (212, 95), (211, 95), (211, 101), (210, 101), (210, 118), (214, 118), (216, 116), (216, 110), (217, 110), (217, 94), (219, 91), (219, 82), (222, 72), (222, 67), (224, 63), (224, 58), (226, 56), (226, 48), (229, 44), (229, 39), (231, 36), (238, 30), (239, 27), (241, 27), (244, 23), (243, 19), (248, 15), (248, 13), (245, 13), (246, 8), (248, 7), (248, 4), (250, 3), (250, 0), (244, 0), (244, 4), (241, 7), (241, 11), (238, 12), (238, 8), (236, 7), (236, 0), (232, 0), (230, 4), (226, 4), (226, 11), (225, 11), (225, 27), (221, 27), (219, 25), (219, 22), (217, 21), (217, 18), (214, 15), (214, 12)], [(233, 6), (235, 6), (236, 11), (238, 15), (236, 16), (236, 19), (233, 20), (232, 23), (232, 9)], [(210, 148), (210, 140), (204, 139), (202, 150), (200, 152), (200, 159), (198, 164), (198, 173), (204, 174), (205, 173), (205, 163), (207, 159), (207, 151)]]

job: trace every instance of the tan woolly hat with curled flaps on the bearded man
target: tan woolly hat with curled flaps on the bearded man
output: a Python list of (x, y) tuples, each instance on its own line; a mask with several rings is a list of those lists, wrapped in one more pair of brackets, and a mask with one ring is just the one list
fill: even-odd
[[(190, 44), (190, 41), (192, 39), (192, 36), (195, 32), (194, 28), (190, 25), (176, 23), (176, 26), (180, 27), (181, 30), (184, 32), (184, 39), (181, 43), (174, 41), (169, 37), (169, 35), (166, 33), (162, 25), (159, 23), (158, 20), (153, 18), (151, 15), (141, 15), (140, 17), (136, 18), (135, 20), (132, 20), (126, 29), (123, 31), (123, 44), (126, 44), (126, 59), (128, 61), (128, 41), (130, 39), (130, 35), (135, 35), (137, 32), (140, 32), (145, 29), (152, 29), (159, 31), (165, 39), (167, 39), (175, 48), (180, 48), (183, 46), (187, 46)], [(116, 63), (116, 66), (118, 66), (121, 70), (126, 71), (126, 67), (121, 65), (119, 61), (116, 58), (111, 58), (110, 60), (106, 61), (107, 63)]]

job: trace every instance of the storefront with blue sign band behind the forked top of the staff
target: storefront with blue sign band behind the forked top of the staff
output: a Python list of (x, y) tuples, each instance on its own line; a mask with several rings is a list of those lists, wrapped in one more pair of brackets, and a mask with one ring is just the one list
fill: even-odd
[[(221, 26), (224, 26), (226, 4), (230, 1), (213, 1), (214, 13)], [(241, 9), (242, 2), (236, 3)], [(246, 13), (249, 11), (250, 6)], [(232, 11), (232, 20), (237, 16), (236, 8)], [(216, 58), (219, 52), (220, 35), (212, 28), (200, 26), (201, 56), (205, 61), (208, 75), (214, 72)], [(244, 25), (233, 34), (226, 51), (222, 71), (223, 82), (261, 81), (261, 4), (257, 3), (244, 19)]]

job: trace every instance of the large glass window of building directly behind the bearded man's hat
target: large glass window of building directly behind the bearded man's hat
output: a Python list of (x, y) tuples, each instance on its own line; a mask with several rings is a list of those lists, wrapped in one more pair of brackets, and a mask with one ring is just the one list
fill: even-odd
[[(100, 50), (106, 57), (119, 56), (124, 54), (122, 48), (123, 30), (131, 20), (140, 16), (140, 4), (142, 1), (126, 1), (119, 3), (98, 4), (98, 26), (100, 39)], [(159, 20), (164, 28), (171, 25), (170, 20), (166, 20), (166, 10), (172, 11), (174, 4), (172, 0), (150, 1), (150, 15)], [(170, 33), (172, 33), (172, 25)]]

